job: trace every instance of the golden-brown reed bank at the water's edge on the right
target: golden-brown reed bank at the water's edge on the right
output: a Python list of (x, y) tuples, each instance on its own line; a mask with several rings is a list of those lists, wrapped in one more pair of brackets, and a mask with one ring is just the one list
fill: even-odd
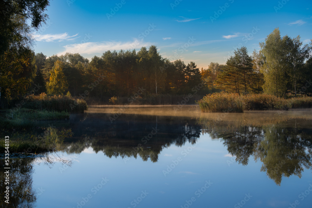
[(202, 112), (243, 112), (244, 110), (287, 110), (291, 108), (311, 108), (312, 97), (284, 99), (267, 94), (214, 93), (197, 102)]

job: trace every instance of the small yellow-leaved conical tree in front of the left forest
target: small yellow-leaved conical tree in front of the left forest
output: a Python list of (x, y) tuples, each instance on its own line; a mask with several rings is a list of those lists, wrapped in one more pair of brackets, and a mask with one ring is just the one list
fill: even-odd
[(50, 82), (47, 84), (47, 93), (51, 95), (64, 94), (68, 88), (66, 76), (63, 72), (64, 63), (57, 60), (51, 70)]

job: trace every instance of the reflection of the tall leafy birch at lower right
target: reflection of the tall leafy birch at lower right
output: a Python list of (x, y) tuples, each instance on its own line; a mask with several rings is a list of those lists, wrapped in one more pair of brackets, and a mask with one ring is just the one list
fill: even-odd
[(301, 177), (304, 168), (310, 169), (312, 165), (311, 140), (308, 137), (302, 131), (267, 127), (264, 139), (255, 147), (255, 159), (263, 162), (261, 171), (265, 171), (278, 185), (283, 176)]

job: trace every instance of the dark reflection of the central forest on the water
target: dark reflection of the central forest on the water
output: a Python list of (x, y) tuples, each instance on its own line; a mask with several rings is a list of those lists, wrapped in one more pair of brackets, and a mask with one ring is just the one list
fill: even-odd
[[(111, 123), (107, 114), (91, 114), (77, 122), (72, 131), (76, 141), (67, 144), (67, 153), (80, 153), (91, 147), (108, 157), (134, 157), (143, 161), (158, 161), (163, 148), (196, 143), (200, 125), (194, 119), (174, 119), (168, 116), (123, 115)], [(72, 121), (81, 121), (79, 115)], [(65, 143), (64, 143), (65, 144)]]

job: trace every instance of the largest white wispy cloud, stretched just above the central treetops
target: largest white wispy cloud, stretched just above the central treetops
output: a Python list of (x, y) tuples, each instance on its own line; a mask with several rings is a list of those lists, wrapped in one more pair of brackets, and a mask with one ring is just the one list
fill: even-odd
[(67, 46), (63, 46), (65, 51), (62, 51), (58, 55), (64, 55), (66, 52), (70, 53), (80, 53), (80, 54), (93, 54), (93, 53), (103, 53), (108, 50), (133, 50), (140, 49), (144, 46), (150, 46), (152, 43), (143, 42), (138, 39), (129, 42), (121, 41), (102, 41), (102, 42), (86, 42), (86, 43), (76, 43)]

